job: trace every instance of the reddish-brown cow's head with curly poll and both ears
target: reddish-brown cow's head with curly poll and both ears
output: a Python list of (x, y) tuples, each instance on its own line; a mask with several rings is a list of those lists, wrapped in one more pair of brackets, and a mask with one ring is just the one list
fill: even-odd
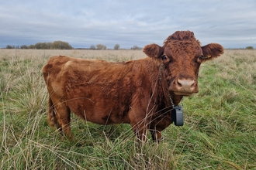
[(199, 91), (200, 64), (223, 54), (223, 46), (217, 43), (201, 46), (193, 32), (177, 31), (164, 40), (164, 46), (147, 45), (144, 53), (162, 60), (172, 95), (189, 96)]

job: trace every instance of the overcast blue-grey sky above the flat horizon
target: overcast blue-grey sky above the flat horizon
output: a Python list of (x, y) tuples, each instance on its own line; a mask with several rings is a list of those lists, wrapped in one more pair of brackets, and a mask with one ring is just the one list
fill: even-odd
[(162, 45), (177, 30), (202, 45), (256, 48), (255, 0), (0, 0), (0, 47), (69, 42), (74, 48)]

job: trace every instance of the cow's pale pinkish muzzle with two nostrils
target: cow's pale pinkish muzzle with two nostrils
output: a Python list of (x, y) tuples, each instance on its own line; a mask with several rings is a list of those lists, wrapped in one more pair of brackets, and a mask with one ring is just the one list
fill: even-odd
[(189, 96), (192, 93), (198, 93), (197, 81), (192, 79), (177, 78), (168, 89), (172, 93), (181, 96)]

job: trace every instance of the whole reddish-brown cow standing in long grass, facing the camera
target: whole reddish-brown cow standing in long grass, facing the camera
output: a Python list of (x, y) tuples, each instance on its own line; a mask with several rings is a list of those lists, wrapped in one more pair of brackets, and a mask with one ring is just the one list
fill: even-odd
[[(171, 120), (171, 100), (197, 93), (201, 63), (223, 54), (223, 46), (201, 46), (190, 31), (177, 31), (164, 46), (144, 47), (148, 57), (123, 63), (53, 56), (43, 66), (49, 92), (47, 121), (67, 137), (71, 111), (95, 124), (131, 124), (137, 138), (154, 141)], [(171, 97), (171, 98), (170, 98)]]

